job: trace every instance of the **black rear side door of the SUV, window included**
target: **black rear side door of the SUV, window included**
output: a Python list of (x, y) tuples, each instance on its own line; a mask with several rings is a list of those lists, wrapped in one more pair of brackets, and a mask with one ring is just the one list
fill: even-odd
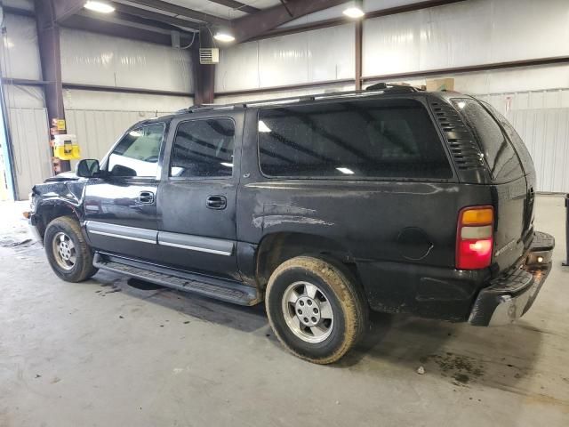
[(236, 262), (236, 141), (243, 119), (172, 121), (158, 190), (162, 263), (221, 278), (239, 278)]

